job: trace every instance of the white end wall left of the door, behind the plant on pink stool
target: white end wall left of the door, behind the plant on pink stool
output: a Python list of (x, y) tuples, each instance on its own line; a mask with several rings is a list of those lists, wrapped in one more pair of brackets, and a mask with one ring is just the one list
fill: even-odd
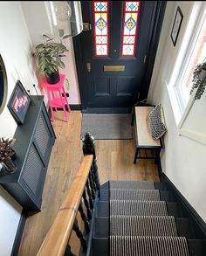
[[(28, 26), (28, 30), (31, 35), (32, 44), (33, 46), (38, 45), (39, 43), (43, 42), (43, 34), (49, 36), (52, 35), (52, 28), (45, 10), (45, 2), (22, 1), (21, 4), (24, 11), (24, 17)], [(72, 38), (65, 39), (63, 43), (69, 49), (69, 52), (66, 52), (66, 57), (63, 59), (65, 63), (65, 69), (60, 70), (60, 72), (65, 73), (66, 77), (70, 82), (69, 103), (80, 104), (79, 82), (76, 72)], [(45, 91), (43, 90), (42, 93), (45, 94)]]

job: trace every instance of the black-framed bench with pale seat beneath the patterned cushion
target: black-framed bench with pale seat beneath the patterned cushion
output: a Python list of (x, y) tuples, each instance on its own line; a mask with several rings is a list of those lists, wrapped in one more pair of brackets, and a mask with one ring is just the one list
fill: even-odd
[[(149, 132), (148, 127), (148, 114), (152, 111), (154, 107), (150, 106), (141, 106), (134, 107), (134, 135), (136, 142), (136, 152), (134, 156), (134, 163), (136, 163), (137, 158), (140, 159), (155, 159), (157, 162), (160, 151), (162, 148), (161, 139), (154, 140)], [(138, 156), (141, 149), (146, 150), (146, 156)], [(155, 156), (147, 156), (147, 150), (154, 149)]]

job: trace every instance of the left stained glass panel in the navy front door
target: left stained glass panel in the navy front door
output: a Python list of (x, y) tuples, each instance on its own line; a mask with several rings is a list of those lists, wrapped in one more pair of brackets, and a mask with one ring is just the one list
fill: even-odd
[(96, 56), (108, 55), (108, 2), (93, 1)]

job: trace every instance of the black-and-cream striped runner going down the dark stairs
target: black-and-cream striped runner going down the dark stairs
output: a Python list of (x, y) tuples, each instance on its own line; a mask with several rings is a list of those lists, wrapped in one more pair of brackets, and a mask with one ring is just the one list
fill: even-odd
[(189, 256), (153, 182), (110, 181), (110, 256)]

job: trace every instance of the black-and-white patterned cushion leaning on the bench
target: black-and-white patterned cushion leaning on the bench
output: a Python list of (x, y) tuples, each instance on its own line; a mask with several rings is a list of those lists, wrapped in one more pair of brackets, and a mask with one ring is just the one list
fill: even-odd
[(167, 132), (167, 128), (161, 114), (161, 104), (154, 107), (154, 109), (148, 114), (148, 126), (150, 134), (154, 140), (160, 139), (161, 136)]

